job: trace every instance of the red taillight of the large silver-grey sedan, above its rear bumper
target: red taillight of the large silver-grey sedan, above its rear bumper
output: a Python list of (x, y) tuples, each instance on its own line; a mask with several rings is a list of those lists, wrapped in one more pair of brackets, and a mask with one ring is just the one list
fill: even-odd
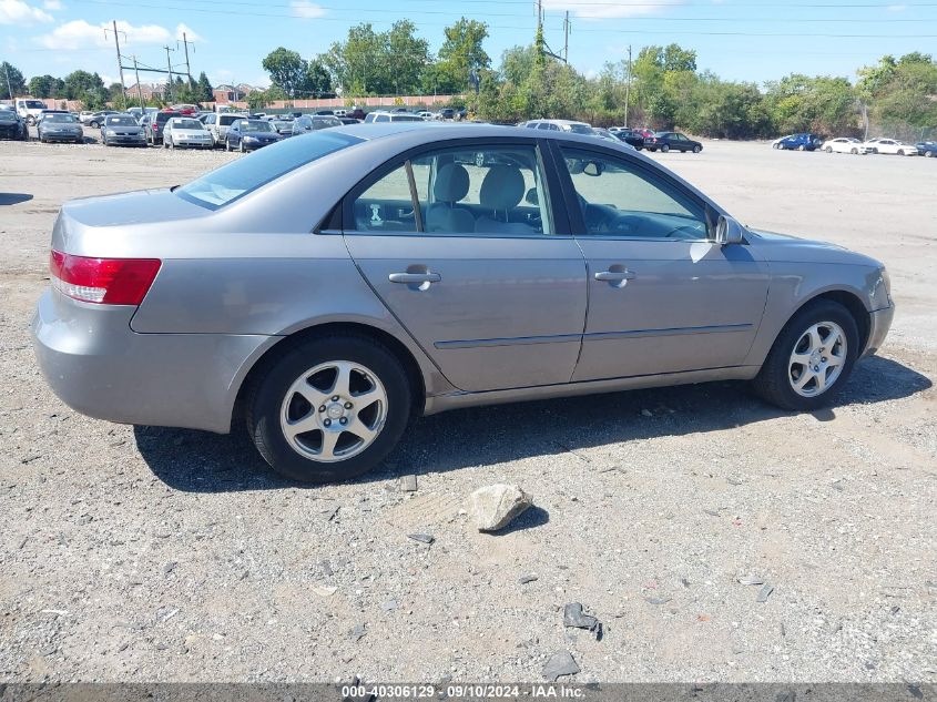
[(139, 305), (160, 272), (159, 258), (89, 258), (52, 251), (52, 287), (69, 297), (103, 305)]

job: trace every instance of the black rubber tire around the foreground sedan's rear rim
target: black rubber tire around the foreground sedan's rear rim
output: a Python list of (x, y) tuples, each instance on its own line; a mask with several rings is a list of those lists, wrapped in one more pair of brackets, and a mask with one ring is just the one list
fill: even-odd
[[(387, 393), (387, 416), (374, 442), (360, 454), (319, 462), (289, 446), (279, 413), (284, 396), (298, 377), (318, 364), (339, 359), (361, 364), (378, 377)], [(371, 470), (390, 452), (407, 428), (411, 408), (407, 372), (383, 344), (367, 336), (325, 336), (287, 347), (253, 384), (247, 398), (247, 430), (261, 456), (279, 475), (301, 482), (338, 482)]]

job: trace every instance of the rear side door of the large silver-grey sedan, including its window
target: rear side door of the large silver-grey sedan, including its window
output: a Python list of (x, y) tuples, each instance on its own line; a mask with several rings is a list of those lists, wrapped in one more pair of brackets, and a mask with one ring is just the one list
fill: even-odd
[(568, 383), (585, 263), (536, 139), (459, 140), (387, 164), (345, 200), (367, 282), (464, 390)]

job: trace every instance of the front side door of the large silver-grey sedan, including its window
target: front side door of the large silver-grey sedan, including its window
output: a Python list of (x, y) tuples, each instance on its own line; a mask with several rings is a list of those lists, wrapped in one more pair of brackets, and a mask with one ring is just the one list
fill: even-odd
[(709, 241), (705, 204), (636, 159), (561, 151), (589, 281), (573, 380), (742, 364), (764, 312), (765, 263)]

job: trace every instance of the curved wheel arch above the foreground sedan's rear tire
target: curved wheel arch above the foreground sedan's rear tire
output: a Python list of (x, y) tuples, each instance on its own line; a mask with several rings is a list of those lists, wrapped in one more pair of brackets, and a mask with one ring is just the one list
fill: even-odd
[(400, 362), (407, 373), (407, 379), (410, 381), (413, 389), (414, 405), (411, 411), (417, 415), (422, 414), (426, 405), (426, 378), (419, 362), (404, 342), (386, 329), (363, 322), (323, 322), (281, 337), (254, 360), (237, 388), (231, 413), (232, 427), (244, 417), (244, 403), (251, 386), (263, 377), (273, 364), (306, 339), (326, 335), (366, 337), (384, 345)]

